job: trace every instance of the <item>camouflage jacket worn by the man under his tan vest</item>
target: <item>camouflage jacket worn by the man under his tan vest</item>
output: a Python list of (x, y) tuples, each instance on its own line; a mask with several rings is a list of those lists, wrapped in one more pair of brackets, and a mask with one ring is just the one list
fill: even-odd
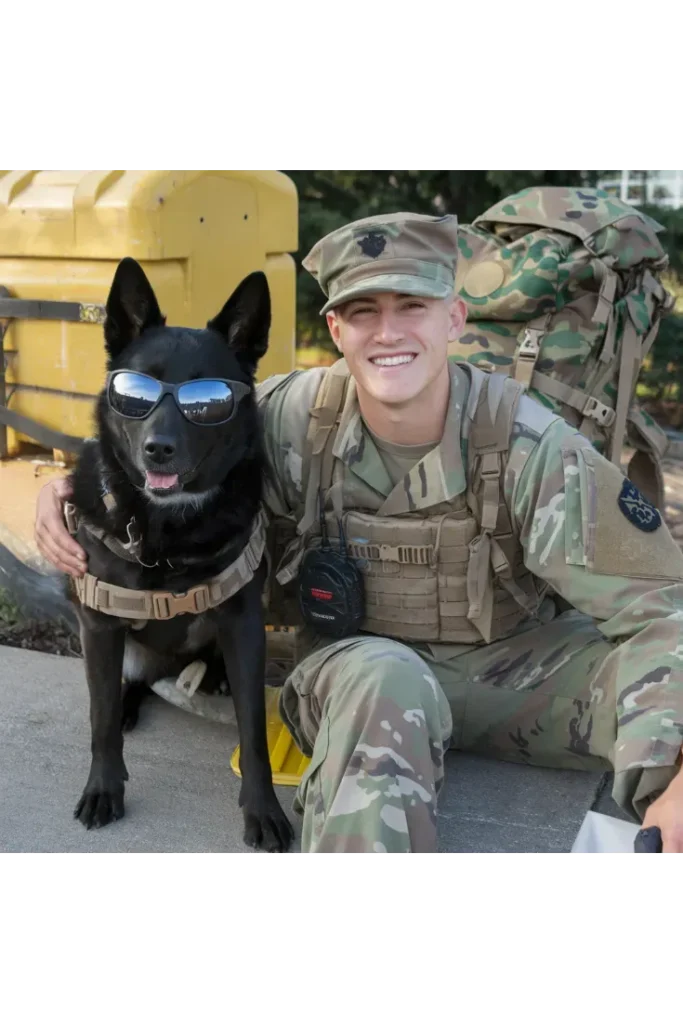
[[(264, 501), (274, 519), (297, 521), (309, 410), (325, 372), (297, 371), (259, 386), (270, 469)], [(345, 466), (345, 508), (400, 515), (466, 492), (467, 376), (458, 364), (451, 374), (443, 439), (395, 488), (357, 402), (347, 403), (334, 449)], [(634, 686), (648, 671), (657, 681), (661, 673), (675, 675), (683, 686), (683, 554), (659, 511), (584, 435), (526, 395), (504, 493), (526, 567), (620, 643), (613, 671)], [(443, 656), (453, 652), (444, 649)], [(620, 689), (628, 694), (628, 683)]]

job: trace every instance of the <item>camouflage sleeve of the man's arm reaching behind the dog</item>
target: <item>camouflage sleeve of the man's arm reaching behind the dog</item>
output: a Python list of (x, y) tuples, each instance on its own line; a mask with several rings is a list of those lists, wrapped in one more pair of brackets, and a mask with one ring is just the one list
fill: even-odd
[(267, 464), (263, 501), (273, 517), (291, 517), (301, 500), (301, 475), (309, 410), (325, 368), (269, 377), (257, 386)]

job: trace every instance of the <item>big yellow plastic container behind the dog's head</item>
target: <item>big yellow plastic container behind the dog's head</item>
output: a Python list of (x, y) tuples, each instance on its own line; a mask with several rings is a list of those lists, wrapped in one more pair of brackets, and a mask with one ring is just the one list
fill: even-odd
[[(170, 326), (203, 327), (243, 278), (263, 270), (272, 329), (259, 379), (289, 372), (297, 249), (296, 186), (276, 170), (0, 168), (0, 286), (10, 299), (76, 304), (82, 317), (57, 309), (9, 322), (7, 408), (63, 434), (92, 434), (103, 304), (124, 256), (144, 268)], [(8, 455), (24, 441), (8, 429)]]

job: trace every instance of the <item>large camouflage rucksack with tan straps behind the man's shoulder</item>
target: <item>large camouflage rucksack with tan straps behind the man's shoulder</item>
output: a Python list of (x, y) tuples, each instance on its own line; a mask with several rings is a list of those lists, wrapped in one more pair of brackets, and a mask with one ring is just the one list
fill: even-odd
[[(524, 188), (460, 227), (468, 324), (450, 357), (511, 374), (664, 506), (665, 432), (636, 398), (675, 298), (664, 228), (595, 188)], [(624, 443), (635, 454), (623, 466)]]

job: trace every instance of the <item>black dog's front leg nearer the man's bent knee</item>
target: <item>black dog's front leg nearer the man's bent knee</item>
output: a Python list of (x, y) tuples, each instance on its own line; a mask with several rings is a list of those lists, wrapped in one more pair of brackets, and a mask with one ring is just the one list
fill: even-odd
[(240, 806), (244, 841), (286, 853), (294, 829), (272, 785), (265, 726), (265, 624), (261, 591), (253, 580), (218, 610), (219, 641), (240, 733)]

